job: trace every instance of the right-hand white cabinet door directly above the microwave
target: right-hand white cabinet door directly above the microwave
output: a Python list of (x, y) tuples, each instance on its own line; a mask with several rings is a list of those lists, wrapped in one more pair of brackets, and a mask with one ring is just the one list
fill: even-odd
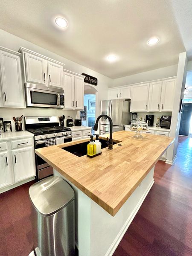
[(63, 66), (47, 61), (49, 86), (63, 89)]

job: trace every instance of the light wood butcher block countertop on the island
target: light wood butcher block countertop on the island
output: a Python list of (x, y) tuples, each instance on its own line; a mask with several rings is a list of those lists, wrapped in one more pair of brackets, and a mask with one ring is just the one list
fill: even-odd
[[(109, 134), (100, 136), (106, 137)], [(130, 131), (117, 131), (113, 141), (121, 145), (113, 145), (112, 150), (103, 148), (94, 158), (77, 157), (62, 149), (89, 139), (39, 148), (35, 153), (114, 216), (174, 141), (160, 135), (143, 137), (138, 140)]]

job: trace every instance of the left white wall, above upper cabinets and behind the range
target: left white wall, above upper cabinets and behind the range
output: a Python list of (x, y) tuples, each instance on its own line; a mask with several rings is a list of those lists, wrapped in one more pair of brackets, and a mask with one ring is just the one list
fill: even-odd
[[(100, 73), (97, 73), (94, 70), (91, 70), (87, 67), (81, 66), (80, 64), (77, 64), (76, 62), (70, 61), (67, 58), (63, 58), (53, 52), (48, 51), (47, 49), (41, 48), (35, 44), (32, 44), (29, 41), (26, 41), (22, 38), (19, 38), (15, 35), (12, 35), (2, 29), (0, 29), (0, 46), (18, 51), (19, 48), (25, 47), (27, 49), (30, 49), (32, 51), (38, 52), (42, 55), (45, 55), (49, 58), (55, 59), (57, 61), (61, 61), (65, 64), (64, 68), (66, 70), (73, 71), (75, 73), (86, 73), (91, 76), (94, 76), (98, 79), (98, 85), (94, 86), (96, 90), (98, 91), (97, 95), (97, 102), (100, 102), (102, 99), (108, 98), (108, 87), (112, 83), (112, 79), (108, 78), (107, 76), (103, 76)], [(99, 104), (97, 104), (96, 113), (99, 113)], [(13, 116), (21, 116), (21, 114), (24, 114), (24, 116), (27, 115), (38, 115), (38, 116), (45, 116), (45, 115), (65, 115), (66, 118), (70, 115), (72, 117), (78, 117), (79, 112), (78, 111), (65, 111), (65, 110), (54, 110), (54, 109), (44, 109), (44, 108), (26, 108), (26, 109), (14, 109), (14, 108), (0, 108), (0, 117), (3, 117), (4, 120), (12, 120)]]

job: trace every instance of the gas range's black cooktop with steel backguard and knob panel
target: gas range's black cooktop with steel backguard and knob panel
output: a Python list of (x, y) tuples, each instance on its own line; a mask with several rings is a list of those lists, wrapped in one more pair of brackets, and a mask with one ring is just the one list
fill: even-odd
[(34, 140), (72, 137), (69, 127), (58, 126), (58, 116), (25, 116), (25, 128), (34, 134)]

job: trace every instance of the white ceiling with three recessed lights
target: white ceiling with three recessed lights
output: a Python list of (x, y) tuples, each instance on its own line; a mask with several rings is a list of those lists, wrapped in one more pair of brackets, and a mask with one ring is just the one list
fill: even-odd
[[(186, 0), (174, 1), (176, 13)], [(178, 63), (185, 47), (174, 13), (171, 0), (1, 0), (0, 28), (114, 79)], [(59, 16), (67, 29), (55, 26)], [(151, 36), (159, 44), (148, 46)]]

